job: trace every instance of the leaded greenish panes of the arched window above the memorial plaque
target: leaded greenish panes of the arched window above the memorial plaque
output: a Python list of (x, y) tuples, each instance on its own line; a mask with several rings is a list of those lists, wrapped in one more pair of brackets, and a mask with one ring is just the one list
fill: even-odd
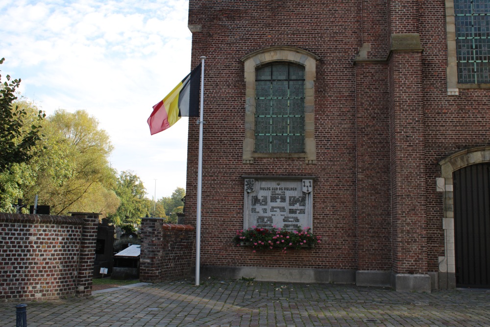
[(305, 69), (273, 63), (256, 69), (255, 152), (305, 151)]

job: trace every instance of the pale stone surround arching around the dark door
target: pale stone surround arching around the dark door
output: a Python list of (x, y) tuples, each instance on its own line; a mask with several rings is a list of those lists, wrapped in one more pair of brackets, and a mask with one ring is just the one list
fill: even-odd
[(477, 147), (456, 152), (439, 162), (441, 177), (437, 178), (437, 191), (443, 192), (444, 256), (439, 257), (439, 272), (445, 274), (447, 288), (456, 287), (456, 250), (454, 243), (453, 172), (466, 166), (490, 162), (490, 147)]

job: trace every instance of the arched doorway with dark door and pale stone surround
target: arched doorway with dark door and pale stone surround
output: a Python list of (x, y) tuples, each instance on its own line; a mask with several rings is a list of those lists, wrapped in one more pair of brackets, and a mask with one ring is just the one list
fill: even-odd
[(490, 147), (456, 152), (439, 162), (444, 256), (439, 287), (490, 288)]

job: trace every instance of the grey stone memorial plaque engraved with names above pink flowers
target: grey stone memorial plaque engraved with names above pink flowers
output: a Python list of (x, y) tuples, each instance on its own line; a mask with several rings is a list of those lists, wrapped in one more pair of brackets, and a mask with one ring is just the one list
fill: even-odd
[(312, 227), (313, 179), (245, 178), (244, 229)]

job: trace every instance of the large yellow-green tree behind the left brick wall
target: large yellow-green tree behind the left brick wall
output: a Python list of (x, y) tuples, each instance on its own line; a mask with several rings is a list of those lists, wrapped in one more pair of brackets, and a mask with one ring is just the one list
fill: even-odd
[(84, 110), (57, 110), (46, 119), (44, 132), (44, 149), (32, 160), (37, 179), (28, 198), (38, 194), (39, 204), (50, 205), (52, 214), (115, 212), (116, 174), (108, 161), (113, 147), (97, 119)]

